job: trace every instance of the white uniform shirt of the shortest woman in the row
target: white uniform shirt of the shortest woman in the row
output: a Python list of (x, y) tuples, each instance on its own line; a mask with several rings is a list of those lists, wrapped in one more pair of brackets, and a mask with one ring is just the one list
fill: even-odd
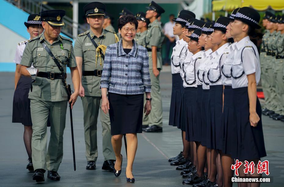
[(189, 62), (185, 60), (187, 65), (184, 73), (184, 87), (197, 87), (197, 71), (199, 69), (203, 53), (203, 51), (199, 51), (195, 55), (191, 56)]

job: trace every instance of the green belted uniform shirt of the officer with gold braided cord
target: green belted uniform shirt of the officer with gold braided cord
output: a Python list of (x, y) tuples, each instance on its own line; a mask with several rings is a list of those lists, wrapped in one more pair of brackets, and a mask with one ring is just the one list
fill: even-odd
[[(105, 45), (106, 47), (116, 43), (118, 40), (117, 36), (114, 32), (104, 29), (100, 37), (96, 37), (91, 29), (77, 36), (74, 53), (76, 57), (83, 58), (82, 71), (94, 71), (95, 69), (103, 70), (104, 60), (103, 58), (98, 57), (96, 62), (96, 54), (99, 55), (99, 53), (96, 52), (95, 46), (87, 36), (88, 33), (90, 33), (91, 38), (98, 46)], [(82, 76), (82, 86), (84, 87), (86, 96), (101, 96), (100, 77)]]

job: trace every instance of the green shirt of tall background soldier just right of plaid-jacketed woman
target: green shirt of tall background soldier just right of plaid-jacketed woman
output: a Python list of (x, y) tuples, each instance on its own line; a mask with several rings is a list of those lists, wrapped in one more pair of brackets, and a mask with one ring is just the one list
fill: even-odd
[[(152, 48), (152, 46), (157, 47), (157, 68), (162, 69), (162, 56), (161, 47), (164, 41), (165, 35), (162, 31), (162, 26), (158, 23), (158, 19), (155, 19), (152, 23), (148, 25), (148, 30), (145, 36), (145, 44), (147, 48)], [(152, 52), (148, 51), (149, 55), (149, 69), (153, 69)]]

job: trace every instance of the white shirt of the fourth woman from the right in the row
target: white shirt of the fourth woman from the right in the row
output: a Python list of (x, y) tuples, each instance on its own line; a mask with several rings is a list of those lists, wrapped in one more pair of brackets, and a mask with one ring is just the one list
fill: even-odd
[[(207, 51), (205, 51), (205, 53), (203, 53), (203, 58), (201, 58), (201, 62), (199, 65), (199, 69), (198, 69), (198, 85), (202, 85), (202, 89), (209, 89), (209, 85), (207, 86), (204, 81), (203, 81), (203, 73), (204, 73), (204, 80), (206, 83), (208, 83), (208, 79), (207, 79), (207, 74), (205, 74), (205, 68), (208, 64), (208, 62), (210, 61), (211, 57), (210, 54), (212, 53), (212, 50), (209, 49)], [(207, 72), (206, 72), (207, 73)], [(206, 75), (206, 76), (205, 76)], [(202, 82), (201, 82), (201, 81)]]

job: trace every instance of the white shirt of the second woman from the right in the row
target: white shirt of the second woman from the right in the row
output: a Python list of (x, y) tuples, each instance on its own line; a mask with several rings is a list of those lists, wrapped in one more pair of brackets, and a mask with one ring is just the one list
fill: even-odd
[(228, 50), (224, 51), (224, 55), (221, 61), (221, 64), (222, 64), (221, 66), (222, 78), (221, 79), (222, 79), (222, 84), (226, 86), (232, 86), (231, 67), (234, 61), (234, 54), (236, 52), (236, 50), (234, 50), (236, 44), (237, 42), (232, 43), (228, 47)]

